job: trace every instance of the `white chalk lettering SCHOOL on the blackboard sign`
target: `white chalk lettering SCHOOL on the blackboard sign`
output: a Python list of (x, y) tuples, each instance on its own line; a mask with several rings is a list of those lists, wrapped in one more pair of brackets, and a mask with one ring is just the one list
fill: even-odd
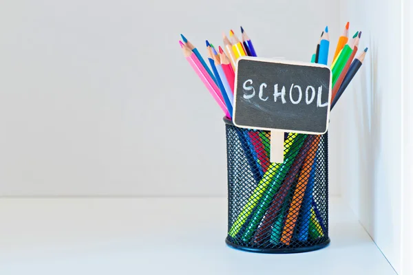
[[(242, 85), (244, 89), (244, 98), (251, 99), (255, 96), (255, 89), (252, 86), (253, 80), (248, 79)], [(258, 98), (262, 101), (271, 100), (271, 91), (270, 89), (266, 89), (268, 85), (266, 83), (262, 83), (260, 85), (260, 90), (258, 91)], [(321, 93), (323, 91), (323, 87), (320, 86), (317, 88), (317, 107), (327, 107), (328, 102), (321, 103)], [(291, 84), (290, 93), (286, 96), (286, 87), (282, 87), (281, 91), (278, 89), (278, 84), (274, 85), (274, 92), (271, 98), (273, 98), (274, 102), (279, 102), (281, 100), (282, 104), (286, 104), (287, 100), (289, 99), (293, 104), (299, 104), (301, 100), (306, 100), (306, 104), (312, 104), (315, 101), (315, 87), (308, 85), (306, 90), (301, 89), (299, 85)], [(315, 104), (315, 103), (314, 103)]]

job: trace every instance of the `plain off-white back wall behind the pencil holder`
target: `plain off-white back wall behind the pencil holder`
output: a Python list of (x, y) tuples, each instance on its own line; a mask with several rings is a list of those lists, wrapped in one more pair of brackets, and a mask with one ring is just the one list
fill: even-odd
[(242, 24), (260, 56), (309, 61), (325, 25), (335, 47), (338, 14), (329, 0), (2, 1), (0, 195), (225, 195), (223, 114), (179, 34), (204, 53)]

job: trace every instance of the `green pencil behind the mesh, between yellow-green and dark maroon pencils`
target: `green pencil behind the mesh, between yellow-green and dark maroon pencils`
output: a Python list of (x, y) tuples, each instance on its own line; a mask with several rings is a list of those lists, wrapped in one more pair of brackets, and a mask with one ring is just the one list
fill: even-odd
[(301, 146), (304, 144), (306, 137), (307, 135), (304, 134), (297, 135), (297, 137), (293, 141), (293, 144), (290, 144), (292, 148), (285, 155), (284, 162), (279, 166), (279, 169), (277, 169), (277, 172), (273, 180), (271, 181), (270, 186), (268, 186), (268, 188), (265, 190), (264, 196), (257, 204), (257, 208), (253, 213), (253, 217), (251, 221), (249, 221), (248, 225), (246, 226), (246, 230), (242, 234), (242, 241), (248, 243), (251, 240), (255, 230), (257, 230), (257, 227), (260, 224), (260, 221), (262, 221), (266, 210), (270, 206), (273, 197), (282, 186), (282, 182), (284, 181), (288, 171), (290, 170), (295, 157), (299, 153)]

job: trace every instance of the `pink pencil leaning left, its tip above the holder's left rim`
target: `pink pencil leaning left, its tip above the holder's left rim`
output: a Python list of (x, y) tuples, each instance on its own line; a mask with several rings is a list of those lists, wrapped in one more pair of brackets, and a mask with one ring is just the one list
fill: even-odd
[(215, 101), (220, 105), (222, 111), (224, 111), (225, 115), (227, 118), (231, 118), (231, 115), (229, 114), (228, 110), (226, 109), (224, 100), (222, 99), (222, 95), (220, 93), (220, 89), (218, 86), (213, 82), (211, 76), (209, 76), (207, 70), (202, 66), (200, 63), (199, 59), (196, 57), (196, 55), (189, 50), (189, 47), (184, 45), (182, 41), (179, 41), (180, 46), (182, 47), (182, 51), (184, 52), (185, 58), (187, 58), (187, 61), (189, 64), (191, 64), (193, 70), (198, 74), (198, 76), (201, 78), (202, 82), (204, 83), (205, 87), (209, 90), (211, 93), (212, 97), (215, 99)]

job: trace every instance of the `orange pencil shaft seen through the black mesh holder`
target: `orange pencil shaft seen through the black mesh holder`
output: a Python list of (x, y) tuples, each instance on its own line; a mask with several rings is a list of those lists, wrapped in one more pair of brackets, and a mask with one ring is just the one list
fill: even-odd
[[(313, 142), (311, 142), (310, 150), (307, 153), (306, 159), (304, 159), (304, 164), (302, 167), (312, 167), (314, 164), (314, 158), (317, 154), (317, 148), (320, 140), (320, 135), (315, 135)], [(297, 223), (297, 217), (299, 214), (299, 209), (301, 208), (301, 203), (304, 199), (304, 193), (306, 192), (308, 179), (310, 178), (310, 173), (308, 170), (301, 170), (299, 174), (297, 187), (293, 195), (293, 201), (290, 204), (290, 210), (288, 210), (288, 215), (286, 223), (284, 225), (284, 230), (281, 236), (281, 242), (290, 245), (290, 241), (293, 238), (293, 232), (295, 224)]]

